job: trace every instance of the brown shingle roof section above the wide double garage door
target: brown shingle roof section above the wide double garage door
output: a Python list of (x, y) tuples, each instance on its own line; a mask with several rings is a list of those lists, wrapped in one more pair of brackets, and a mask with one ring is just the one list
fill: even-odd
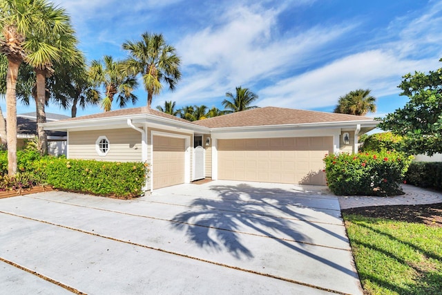
[(211, 117), (195, 122), (200, 126), (209, 128), (243, 127), (243, 126), (269, 126), (285, 124), (308, 124), (327, 122), (372, 122), (369, 117), (345, 115), (338, 113), (325, 113), (318, 111), (303, 111), (292, 108), (276, 108), (266, 106), (264, 108), (253, 108), (251, 110), (219, 117)]

